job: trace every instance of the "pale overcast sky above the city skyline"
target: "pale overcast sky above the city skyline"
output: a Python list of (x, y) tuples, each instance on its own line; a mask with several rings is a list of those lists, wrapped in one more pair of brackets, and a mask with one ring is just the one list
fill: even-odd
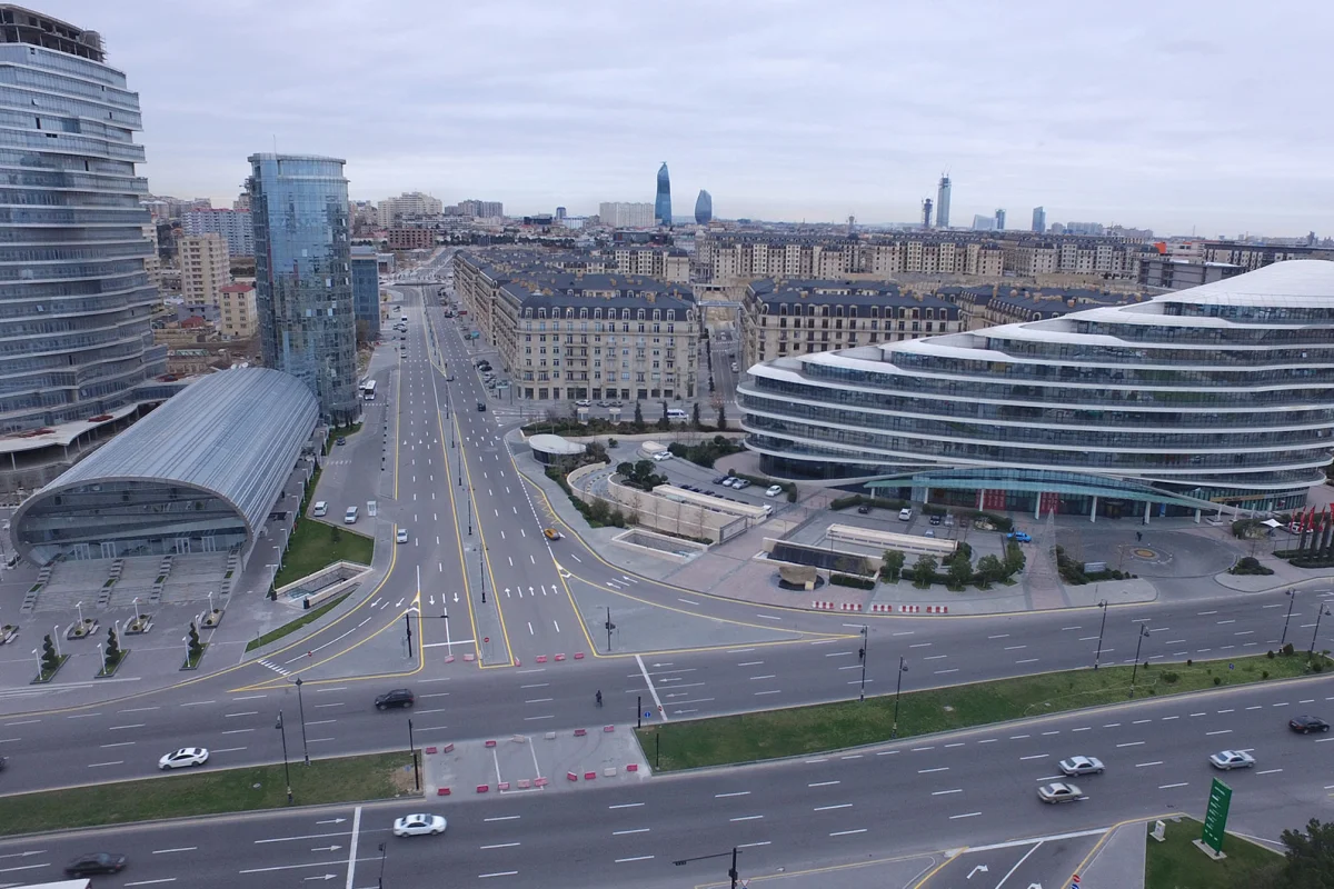
[[(506, 212), (707, 188), (722, 217), (1334, 233), (1334, 5), (1307, 0), (29, 0), (100, 31), (156, 193), (229, 205), (256, 151), (354, 199)], [(1231, 12), (1235, 8), (1237, 12)]]

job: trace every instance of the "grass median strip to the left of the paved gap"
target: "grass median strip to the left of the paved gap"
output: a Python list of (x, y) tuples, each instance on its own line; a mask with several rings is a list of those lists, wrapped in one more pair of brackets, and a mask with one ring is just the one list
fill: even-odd
[[(297, 805), (384, 800), (412, 793), (412, 772), (406, 768), (411, 764), (407, 752), (311, 760), (309, 765), (304, 765), (300, 728), (296, 729), (296, 740), (291, 770), (292, 797)], [(280, 809), (285, 805), (287, 784), (281, 764), (208, 769), (165, 778), (0, 797), (0, 836), (151, 818)]]

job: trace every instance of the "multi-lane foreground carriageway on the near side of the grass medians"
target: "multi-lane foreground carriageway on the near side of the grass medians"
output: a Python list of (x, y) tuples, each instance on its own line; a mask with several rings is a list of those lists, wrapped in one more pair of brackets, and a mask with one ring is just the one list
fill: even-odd
[[(1230, 825), (1243, 833), (1273, 837), (1326, 812), (1334, 774), (1325, 744), (1334, 736), (1297, 736), (1285, 720), (1297, 708), (1330, 700), (1334, 678), (1318, 678), (635, 786), (378, 804), (359, 816), (351, 808), (300, 810), (16, 838), (0, 842), (0, 880), (51, 878), (53, 865), (67, 857), (105, 848), (125, 852), (132, 864), (104, 885), (244, 880), (292, 886), (332, 874), (327, 880), (372, 886), (379, 844), (386, 842), (384, 881), (395, 888), (434, 886), (442, 877), (448, 885), (680, 886), (719, 877), (726, 861), (688, 870), (672, 861), (732, 845), (743, 850), (742, 876), (756, 877), (882, 857), (888, 849), (927, 853), (1049, 837), (1041, 845), (980, 849), (968, 869), (986, 870), (972, 881), (966, 874), (954, 880), (960, 870), (951, 866), (927, 885), (1000, 886), (1011, 868), (1015, 878), (1059, 885), (1089, 848), (1079, 837), (1062, 836), (1126, 818), (1198, 814), (1214, 777), (1233, 786)], [(1206, 757), (1223, 746), (1253, 750), (1257, 766), (1217, 773)], [(1035, 789), (1057, 778), (1055, 761), (1077, 753), (1099, 756), (1107, 773), (1079, 780), (1083, 801), (1039, 802)], [(387, 836), (394, 817), (416, 808), (446, 814), (446, 836)]]

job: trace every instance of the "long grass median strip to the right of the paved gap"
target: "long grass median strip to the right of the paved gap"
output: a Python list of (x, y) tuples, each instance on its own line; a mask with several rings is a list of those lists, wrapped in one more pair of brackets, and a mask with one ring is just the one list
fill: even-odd
[[(1331, 666), (1329, 657), (1315, 657), (1322, 669)], [(908, 669), (920, 669), (920, 665), (910, 661)], [(1309, 669), (1306, 652), (1279, 654), (1273, 660), (1259, 654), (1231, 661), (1202, 661), (1191, 666), (1155, 662), (1139, 666), (1135, 697), (1291, 678), (1306, 674)], [(1103, 666), (1098, 670), (1067, 670), (912, 692), (918, 673), (910, 672), (903, 676), (896, 737), (1115, 704), (1129, 698), (1130, 673), (1130, 666)], [(875, 744), (894, 737), (892, 725), (894, 694), (884, 694), (867, 697), (864, 702), (852, 700), (668, 722), (640, 729), (639, 741), (654, 761), (656, 748), (652, 736), (660, 736), (662, 762), (656, 768), (674, 770)]]

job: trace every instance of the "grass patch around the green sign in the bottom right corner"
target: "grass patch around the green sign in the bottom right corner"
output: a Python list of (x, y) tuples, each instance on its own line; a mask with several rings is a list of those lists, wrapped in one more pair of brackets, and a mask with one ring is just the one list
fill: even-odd
[[(1146, 825), (1145, 830), (1151, 830)], [(1281, 868), (1283, 856), (1254, 842), (1227, 836), (1222, 861), (1214, 861), (1191, 842), (1202, 825), (1194, 818), (1167, 822), (1166, 840), (1149, 840), (1145, 889), (1247, 889), (1263, 885), (1259, 874)]]

